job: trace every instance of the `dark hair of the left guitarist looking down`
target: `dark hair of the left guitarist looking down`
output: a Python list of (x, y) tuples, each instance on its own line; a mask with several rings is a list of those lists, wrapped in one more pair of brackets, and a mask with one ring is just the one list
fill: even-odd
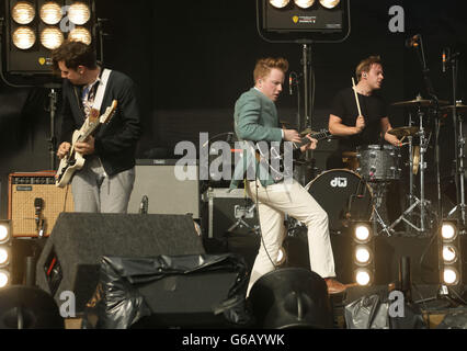
[(91, 45), (68, 39), (52, 52), (52, 60), (55, 72), (59, 72), (59, 61), (64, 61), (65, 66), (70, 69), (77, 69), (78, 66), (84, 66), (89, 69), (98, 67), (95, 52)]

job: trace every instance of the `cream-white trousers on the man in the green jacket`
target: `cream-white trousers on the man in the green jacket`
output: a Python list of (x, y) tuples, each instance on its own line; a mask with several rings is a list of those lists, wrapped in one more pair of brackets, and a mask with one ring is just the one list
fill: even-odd
[[(328, 214), (297, 181), (263, 188), (259, 181), (247, 182), (247, 192), (258, 202), (262, 240), (251, 271), (247, 296), (254, 282), (274, 270), (285, 239), (285, 214), (308, 228), (311, 271), (322, 278), (335, 276), (334, 257), (329, 237)], [(258, 201), (257, 201), (258, 194)]]

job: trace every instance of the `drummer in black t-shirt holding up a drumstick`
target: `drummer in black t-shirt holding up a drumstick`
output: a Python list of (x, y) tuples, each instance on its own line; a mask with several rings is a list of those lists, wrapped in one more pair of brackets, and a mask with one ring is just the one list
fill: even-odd
[(385, 141), (401, 146), (402, 143), (388, 132), (392, 129), (387, 116), (387, 105), (376, 92), (384, 80), (379, 56), (371, 56), (356, 67), (357, 83), (341, 90), (334, 98), (329, 116), (329, 132), (339, 138), (338, 155), (328, 160), (328, 169), (344, 168), (342, 155), (366, 145)]

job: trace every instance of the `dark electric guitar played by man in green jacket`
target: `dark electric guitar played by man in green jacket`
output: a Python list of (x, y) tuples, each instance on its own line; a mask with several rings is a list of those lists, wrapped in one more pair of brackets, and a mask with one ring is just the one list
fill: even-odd
[[(330, 139), (332, 137), (328, 129), (321, 129), (310, 134), (310, 137), (316, 140)], [(297, 150), (303, 146), (310, 144), (311, 140), (307, 137), (301, 138), (300, 143), (292, 143), (293, 149)], [(269, 173), (274, 181), (283, 180), (287, 177), (293, 177), (293, 159), (285, 160), (284, 143), (257, 143), (257, 160), (262, 165), (267, 165)], [(288, 162), (287, 162), (288, 161)], [(291, 169), (292, 167), (292, 169)]]

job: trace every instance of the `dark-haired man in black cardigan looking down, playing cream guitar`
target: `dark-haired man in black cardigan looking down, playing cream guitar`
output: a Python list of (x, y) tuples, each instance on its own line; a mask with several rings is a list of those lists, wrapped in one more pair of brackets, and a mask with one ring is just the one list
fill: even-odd
[[(61, 144), (57, 156), (64, 159), (70, 152), (78, 152), (86, 160), (71, 178), (75, 211), (126, 213), (141, 133), (134, 83), (117, 71), (111, 71), (110, 76), (107, 71), (103, 83), (103, 69), (98, 66), (94, 50), (83, 43), (66, 41), (53, 52), (53, 63), (55, 71), (64, 78)], [(96, 95), (102, 100), (100, 106), (94, 104)], [(114, 101), (117, 109), (109, 124), (102, 124), (95, 134), (72, 145), (71, 135), (82, 127), (91, 110), (99, 110), (94, 112), (102, 115)]]

